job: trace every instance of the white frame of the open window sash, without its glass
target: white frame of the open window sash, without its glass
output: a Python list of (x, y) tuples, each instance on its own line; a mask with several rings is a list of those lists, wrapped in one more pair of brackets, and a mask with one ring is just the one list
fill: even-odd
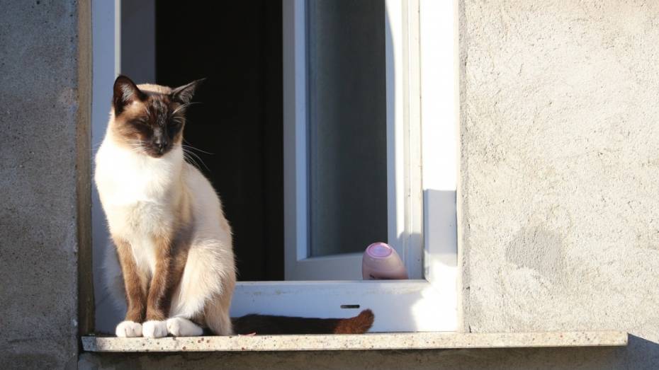
[[(284, 245), (286, 280), (361, 279), (362, 253), (311, 257), (308, 212), (308, 60), (307, 1), (284, 1), (283, 6), (283, 137), (284, 137)], [(407, 267), (412, 279), (423, 277), (421, 135), (418, 76), (418, 12), (403, 18), (407, 8), (386, 4), (393, 20), (382, 20), (385, 28), (386, 131), (387, 131), (387, 230), (386, 242)], [(415, 14), (415, 12), (412, 12)], [(288, 26), (288, 27), (286, 27)], [(409, 34), (416, 42), (393, 40)], [(399, 47), (399, 48), (400, 48)], [(403, 57), (408, 55), (409, 58)], [(395, 58), (398, 56), (398, 59)], [(407, 66), (409, 60), (417, 68)], [(398, 64), (400, 67), (395, 67)], [(409, 75), (405, 75), (409, 71)], [(394, 82), (395, 81), (395, 82)], [(376, 241), (372, 241), (376, 242)], [(366, 248), (366, 245), (364, 245)]]

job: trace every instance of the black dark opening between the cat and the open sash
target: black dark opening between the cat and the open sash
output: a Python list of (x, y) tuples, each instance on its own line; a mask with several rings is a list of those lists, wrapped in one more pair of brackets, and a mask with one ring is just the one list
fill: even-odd
[(238, 279), (283, 280), (281, 1), (158, 1), (155, 23), (157, 83), (207, 78), (185, 137), (212, 153), (194, 151), (232, 226)]

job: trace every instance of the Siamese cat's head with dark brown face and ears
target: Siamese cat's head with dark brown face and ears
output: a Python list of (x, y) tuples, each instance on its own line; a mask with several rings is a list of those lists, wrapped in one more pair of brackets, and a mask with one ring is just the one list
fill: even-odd
[(178, 88), (158, 85), (135, 85), (126, 76), (114, 81), (111, 124), (114, 137), (133, 151), (160, 158), (181, 145), (185, 112), (197, 80)]

